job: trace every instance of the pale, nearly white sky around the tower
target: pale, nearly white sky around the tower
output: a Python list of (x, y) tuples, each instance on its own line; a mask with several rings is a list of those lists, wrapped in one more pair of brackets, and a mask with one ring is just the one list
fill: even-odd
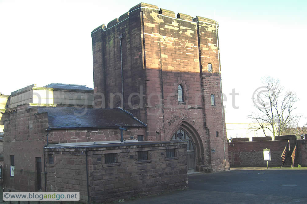
[[(198, 3), (197, 3), (198, 2)], [(0, 92), (27, 85), (93, 88), (91, 31), (140, 1), (0, 0)], [(159, 8), (219, 22), (226, 123), (249, 122), (252, 94), (264, 76), (280, 79), (305, 102), (307, 1), (147, 1)], [(235, 89), (235, 106), (229, 93)]]

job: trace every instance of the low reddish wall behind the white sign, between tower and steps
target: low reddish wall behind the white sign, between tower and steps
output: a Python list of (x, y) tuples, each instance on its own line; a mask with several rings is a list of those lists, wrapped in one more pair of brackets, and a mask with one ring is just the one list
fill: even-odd
[(267, 163), (263, 161), (263, 149), (270, 149), (271, 161), (269, 161), (269, 167), (281, 167), (282, 159), (280, 156), (286, 145), (289, 148), (288, 140), (229, 142), (230, 165), (231, 167), (266, 167)]

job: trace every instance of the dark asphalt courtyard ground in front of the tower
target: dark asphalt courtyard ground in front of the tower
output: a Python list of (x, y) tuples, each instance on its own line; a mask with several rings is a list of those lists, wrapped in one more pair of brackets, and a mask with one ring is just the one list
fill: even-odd
[(235, 168), (189, 175), (188, 187), (125, 203), (307, 203), (307, 170)]

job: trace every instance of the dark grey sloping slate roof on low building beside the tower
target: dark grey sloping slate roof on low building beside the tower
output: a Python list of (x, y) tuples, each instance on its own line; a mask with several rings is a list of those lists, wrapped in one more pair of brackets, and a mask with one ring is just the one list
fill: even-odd
[(145, 123), (121, 108), (36, 107), (48, 112), (49, 128), (146, 127)]

